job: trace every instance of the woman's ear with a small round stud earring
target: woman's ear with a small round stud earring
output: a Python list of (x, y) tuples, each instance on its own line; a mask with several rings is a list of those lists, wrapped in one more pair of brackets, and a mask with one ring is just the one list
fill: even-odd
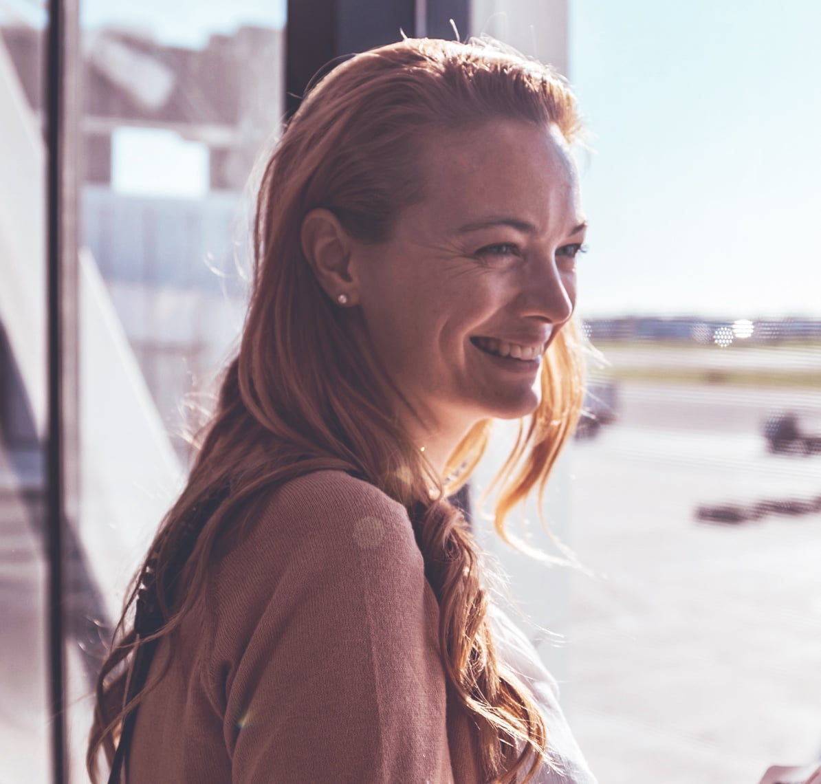
[(359, 291), (351, 265), (353, 243), (330, 210), (312, 209), (300, 229), (302, 253), (325, 293), (337, 305), (357, 305)]

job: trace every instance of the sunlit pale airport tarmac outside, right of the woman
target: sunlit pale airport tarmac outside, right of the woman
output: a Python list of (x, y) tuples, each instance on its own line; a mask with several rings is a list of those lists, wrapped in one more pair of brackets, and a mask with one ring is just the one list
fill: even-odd
[(821, 495), (821, 456), (760, 424), (821, 393), (628, 384), (576, 442), (562, 704), (602, 784), (757, 784), (821, 753), (821, 515), (742, 525), (704, 503)]

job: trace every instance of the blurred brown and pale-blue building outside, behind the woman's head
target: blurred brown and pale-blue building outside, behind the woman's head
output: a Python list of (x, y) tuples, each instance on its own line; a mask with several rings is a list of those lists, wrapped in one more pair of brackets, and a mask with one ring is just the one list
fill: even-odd
[[(0, 27), (25, 97), (43, 116), (39, 30)], [(242, 27), (201, 50), (134, 30), (85, 34), (80, 117), (80, 242), (94, 255), (177, 452), (181, 398), (225, 359), (245, 311), (249, 205), (242, 193), (284, 109), (282, 30)], [(112, 187), (112, 137), (171, 131), (203, 145), (196, 198)], [(136, 163), (139, 166), (139, 162)]]

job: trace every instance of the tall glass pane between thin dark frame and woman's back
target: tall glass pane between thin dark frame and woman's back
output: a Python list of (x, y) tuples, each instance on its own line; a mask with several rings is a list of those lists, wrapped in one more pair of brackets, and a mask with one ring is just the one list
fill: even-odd
[[(248, 202), (284, 111), (284, 4), (80, 2), (80, 518), (72, 768), (126, 585), (245, 314)], [(73, 660), (73, 665), (71, 664)]]

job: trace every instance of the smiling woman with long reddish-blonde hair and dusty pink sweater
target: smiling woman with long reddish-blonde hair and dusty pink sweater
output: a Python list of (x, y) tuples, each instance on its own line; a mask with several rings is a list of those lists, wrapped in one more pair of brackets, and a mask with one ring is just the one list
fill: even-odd
[(100, 676), (89, 770), (122, 725), (133, 784), (593, 781), (516, 667), (526, 640), (491, 629), (447, 501), (488, 421), (532, 415), (503, 533), (576, 423), (579, 126), (553, 71), (479, 43), (407, 39), (306, 96), (264, 169), (240, 350)]

